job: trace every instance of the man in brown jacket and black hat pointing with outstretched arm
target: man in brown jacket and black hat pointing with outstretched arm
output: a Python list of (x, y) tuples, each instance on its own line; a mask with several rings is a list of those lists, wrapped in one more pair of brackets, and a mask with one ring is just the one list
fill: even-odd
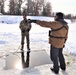
[(62, 12), (56, 13), (55, 21), (41, 21), (29, 20), (30, 23), (34, 22), (41, 27), (50, 28), (49, 31), (49, 44), (50, 44), (50, 58), (53, 61), (53, 68), (51, 70), (58, 74), (59, 67), (66, 70), (65, 59), (63, 56), (63, 47), (68, 38), (68, 23), (64, 20)]

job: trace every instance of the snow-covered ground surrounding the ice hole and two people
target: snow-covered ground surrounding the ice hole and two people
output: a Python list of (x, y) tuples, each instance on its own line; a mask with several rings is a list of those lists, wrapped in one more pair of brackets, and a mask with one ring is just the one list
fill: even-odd
[[(50, 17), (28, 16), (27, 18), (53, 21), (53, 18)], [(19, 23), (21, 20), (22, 16), (0, 16), (0, 75), (55, 75), (50, 71), (52, 64), (26, 68), (24, 70), (18, 68), (11, 70), (3, 69), (5, 66), (5, 55), (20, 48)], [(67, 70), (66, 72), (60, 70), (59, 75), (76, 75), (76, 23), (71, 23), (70, 20), (66, 21), (69, 25), (68, 40), (64, 48)], [(30, 31), (30, 47), (32, 51), (44, 49), (49, 55), (48, 31), (48, 28), (32, 23)]]

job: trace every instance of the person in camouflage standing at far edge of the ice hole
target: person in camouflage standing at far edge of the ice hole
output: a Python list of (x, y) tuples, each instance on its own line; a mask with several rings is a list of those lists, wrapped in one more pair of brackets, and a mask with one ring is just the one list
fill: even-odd
[(30, 50), (29, 32), (31, 30), (31, 23), (28, 22), (26, 13), (23, 14), (23, 20), (20, 22), (19, 28), (21, 30), (21, 50), (24, 48), (24, 40), (26, 37), (27, 49)]

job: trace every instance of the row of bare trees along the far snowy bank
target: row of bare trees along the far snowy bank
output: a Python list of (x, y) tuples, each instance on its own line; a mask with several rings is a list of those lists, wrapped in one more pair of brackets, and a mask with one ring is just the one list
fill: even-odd
[[(6, 12), (6, 1), (8, 1), (8, 11)], [(46, 0), (0, 0), (0, 12), (9, 15), (22, 15), (26, 12), (27, 15), (34, 16), (55, 16), (52, 12), (50, 2)], [(64, 16), (66, 19), (76, 19), (76, 16), (67, 14)]]

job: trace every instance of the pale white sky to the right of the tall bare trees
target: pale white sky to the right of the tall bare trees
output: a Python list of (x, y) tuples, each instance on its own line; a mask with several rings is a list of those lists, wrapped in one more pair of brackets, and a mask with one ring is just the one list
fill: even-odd
[(53, 12), (76, 14), (76, 0), (47, 0), (51, 2)]

